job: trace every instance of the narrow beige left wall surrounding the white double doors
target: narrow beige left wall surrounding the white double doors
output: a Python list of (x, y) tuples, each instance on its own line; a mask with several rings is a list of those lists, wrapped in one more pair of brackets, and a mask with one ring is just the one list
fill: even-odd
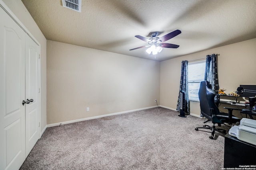
[(40, 67), (41, 67), (41, 107), (40, 107), (40, 123), (41, 133), (46, 127), (46, 38), (42, 34), (32, 16), (24, 6), (21, 0), (3, 0), (3, 2), (10, 8), (14, 15), (22, 22), (28, 31), (40, 43)]

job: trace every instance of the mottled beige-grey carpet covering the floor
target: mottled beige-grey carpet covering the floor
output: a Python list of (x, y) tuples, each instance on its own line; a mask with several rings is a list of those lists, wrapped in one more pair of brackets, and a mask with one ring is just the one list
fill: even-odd
[(47, 128), (20, 170), (221, 170), (224, 135), (211, 140), (195, 131), (204, 119), (178, 114), (157, 107)]

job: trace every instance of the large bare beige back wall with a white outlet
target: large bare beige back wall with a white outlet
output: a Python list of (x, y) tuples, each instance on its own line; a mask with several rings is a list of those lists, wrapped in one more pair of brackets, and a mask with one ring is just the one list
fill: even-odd
[(47, 124), (156, 106), (155, 99), (160, 62), (47, 40)]

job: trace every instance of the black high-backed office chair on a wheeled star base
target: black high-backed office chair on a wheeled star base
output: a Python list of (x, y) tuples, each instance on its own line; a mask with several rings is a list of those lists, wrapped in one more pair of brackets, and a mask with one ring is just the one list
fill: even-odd
[(199, 88), (198, 97), (200, 100), (200, 109), (201, 114), (208, 119), (204, 123), (208, 121), (212, 121), (212, 127), (209, 125), (204, 125), (203, 127), (196, 127), (195, 130), (198, 131), (199, 128), (203, 129), (211, 129), (212, 135), (209, 137), (210, 139), (214, 139), (215, 131), (226, 134), (226, 130), (219, 129), (215, 127), (215, 124), (218, 124), (220, 127), (223, 123), (236, 123), (240, 121), (238, 117), (228, 117), (228, 113), (221, 113), (218, 107), (214, 102), (214, 97), (216, 93), (210, 88), (210, 83), (208, 81), (202, 81)]

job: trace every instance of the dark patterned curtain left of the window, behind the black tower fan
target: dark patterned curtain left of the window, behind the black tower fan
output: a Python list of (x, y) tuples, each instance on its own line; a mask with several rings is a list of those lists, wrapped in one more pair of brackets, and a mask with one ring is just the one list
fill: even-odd
[[(189, 101), (188, 101), (188, 61), (186, 60), (181, 62), (180, 90), (185, 91), (185, 100), (186, 100), (185, 112), (189, 114), (190, 109), (189, 109)], [(180, 91), (178, 95), (178, 103), (177, 103), (176, 111), (180, 111)]]

